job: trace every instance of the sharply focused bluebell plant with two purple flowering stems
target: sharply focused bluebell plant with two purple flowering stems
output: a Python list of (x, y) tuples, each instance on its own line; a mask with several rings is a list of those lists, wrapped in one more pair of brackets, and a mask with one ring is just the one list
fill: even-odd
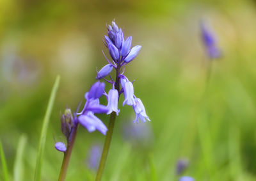
[[(77, 111), (72, 114), (70, 109), (66, 109), (65, 113), (61, 116), (61, 131), (67, 138), (67, 146), (62, 142), (55, 144), (55, 148), (64, 153), (59, 180), (65, 180), (78, 125), (82, 125), (88, 132), (98, 130), (106, 135), (96, 176), (96, 180), (101, 180), (106, 159), (108, 157), (115, 118), (118, 113), (120, 113), (120, 109), (118, 109), (120, 95), (124, 95), (122, 106), (127, 104), (134, 109), (136, 115), (134, 123), (138, 123), (139, 120), (142, 122), (146, 122), (146, 120), (150, 121), (140, 98), (137, 98), (134, 95), (132, 82), (124, 75), (125, 66), (138, 56), (141, 46), (136, 45), (132, 47), (132, 36), (126, 38), (124, 31), (121, 28), (118, 28), (115, 20), (112, 21), (112, 24), (108, 25), (107, 28), (108, 36), (104, 36), (104, 44), (108, 49), (111, 60), (109, 60), (103, 52), (108, 64), (102, 67), (99, 72), (97, 71), (96, 79), (98, 81), (92, 85), (87, 93), (85, 93), (84, 98), (86, 99), (86, 103), (84, 104), (82, 111), (79, 112), (79, 108), (77, 108)], [(113, 70), (115, 70), (115, 79), (110, 75)], [(109, 79), (107, 77), (109, 77)], [(100, 80), (104, 80), (106, 83), (111, 84), (112, 88), (108, 93), (105, 91), (105, 83), (100, 82)], [(99, 98), (102, 97), (102, 95), (108, 100), (107, 106), (100, 104)], [(106, 127), (95, 114), (110, 114), (108, 127)]]

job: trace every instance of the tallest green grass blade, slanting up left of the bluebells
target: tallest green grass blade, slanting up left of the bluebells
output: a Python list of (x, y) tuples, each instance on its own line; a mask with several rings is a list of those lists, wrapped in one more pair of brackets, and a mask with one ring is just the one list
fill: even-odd
[(48, 123), (49, 123), (49, 119), (51, 116), (52, 107), (54, 104), (54, 100), (56, 97), (56, 92), (58, 90), (59, 84), (60, 84), (60, 75), (58, 75), (56, 77), (56, 81), (54, 83), (54, 86), (52, 87), (51, 97), (49, 99), (46, 113), (44, 116), (44, 122), (43, 122), (42, 132), (41, 132), (41, 136), (40, 136), (38, 152), (37, 152), (37, 156), (36, 156), (36, 169), (35, 169), (35, 177), (34, 177), (34, 180), (36, 180), (36, 181), (40, 180), (47, 128), (48, 128)]

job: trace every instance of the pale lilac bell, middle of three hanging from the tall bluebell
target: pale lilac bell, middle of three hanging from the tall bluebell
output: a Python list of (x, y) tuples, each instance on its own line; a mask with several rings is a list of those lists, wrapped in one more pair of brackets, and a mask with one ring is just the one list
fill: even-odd
[(132, 106), (133, 104), (135, 104), (134, 101), (134, 90), (133, 90), (133, 85), (130, 81), (127, 81), (124, 83), (124, 102), (123, 102), (123, 106), (125, 104)]

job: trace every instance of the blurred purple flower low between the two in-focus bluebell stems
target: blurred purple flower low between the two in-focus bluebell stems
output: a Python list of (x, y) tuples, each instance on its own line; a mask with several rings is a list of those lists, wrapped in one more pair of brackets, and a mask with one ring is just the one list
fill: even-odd
[(90, 148), (89, 157), (87, 159), (87, 164), (90, 169), (97, 170), (99, 166), (100, 161), (100, 155), (101, 155), (101, 146), (100, 145), (93, 145)]

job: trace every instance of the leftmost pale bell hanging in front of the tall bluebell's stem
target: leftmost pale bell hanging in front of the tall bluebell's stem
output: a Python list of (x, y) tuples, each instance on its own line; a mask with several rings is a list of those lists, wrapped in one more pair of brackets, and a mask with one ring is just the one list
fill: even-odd
[(118, 113), (120, 112), (120, 109), (118, 110), (118, 91), (115, 89), (111, 89), (108, 92), (108, 113), (110, 114), (113, 111), (116, 112), (116, 115), (118, 115)]

